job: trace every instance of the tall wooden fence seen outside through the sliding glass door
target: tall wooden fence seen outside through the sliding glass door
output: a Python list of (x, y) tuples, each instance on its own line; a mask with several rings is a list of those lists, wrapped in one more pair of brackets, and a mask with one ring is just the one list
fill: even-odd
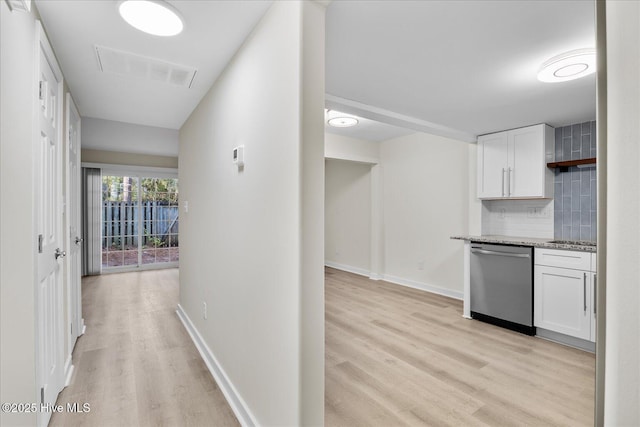
[[(139, 212), (139, 209), (141, 212)], [(167, 202), (102, 203), (102, 247), (178, 246), (178, 206)], [(138, 216), (140, 214), (140, 217)], [(139, 227), (142, 233), (139, 233)]]

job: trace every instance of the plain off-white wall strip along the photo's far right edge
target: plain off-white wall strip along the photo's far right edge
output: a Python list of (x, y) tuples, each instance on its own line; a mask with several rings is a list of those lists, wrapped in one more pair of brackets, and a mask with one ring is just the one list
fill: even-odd
[(605, 425), (640, 425), (640, 3), (607, 1)]

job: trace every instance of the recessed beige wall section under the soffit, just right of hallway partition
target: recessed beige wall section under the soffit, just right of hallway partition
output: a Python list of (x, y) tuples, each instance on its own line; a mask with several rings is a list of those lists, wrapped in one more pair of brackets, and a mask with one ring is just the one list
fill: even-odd
[(369, 275), (371, 165), (325, 161), (325, 263)]

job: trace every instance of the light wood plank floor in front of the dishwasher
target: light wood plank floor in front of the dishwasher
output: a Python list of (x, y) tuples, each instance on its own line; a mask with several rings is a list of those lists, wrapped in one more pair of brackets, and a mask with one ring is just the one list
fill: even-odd
[(327, 425), (593, 425), (592, 354), (463, 319), (458, 300), (325, 277)]

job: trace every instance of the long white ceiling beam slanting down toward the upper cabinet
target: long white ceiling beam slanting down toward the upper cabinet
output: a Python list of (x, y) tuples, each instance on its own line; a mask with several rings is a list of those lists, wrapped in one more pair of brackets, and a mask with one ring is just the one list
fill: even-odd
[(445, 138), (452, 138), (464, 142), (476, 142), (477, 135), (470, 134), (458, 129), (453, 129), (437, 123), (405, 116), (393, 111), (363, 104), (351, 99), (325, 94), (325, 107), (342, 111), (343, 113), (354, 114), (365, 119), (376, 120), (394, 126), (426, 132), (432, 135), (439, 135)]

